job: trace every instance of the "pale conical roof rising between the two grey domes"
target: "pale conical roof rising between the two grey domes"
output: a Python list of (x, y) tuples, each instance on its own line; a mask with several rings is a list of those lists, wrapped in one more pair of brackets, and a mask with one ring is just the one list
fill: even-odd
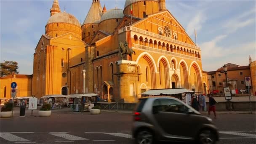
[(101, 20), (102, 8), (99, 0), (93, 0), (83, 24), (98, 23)]

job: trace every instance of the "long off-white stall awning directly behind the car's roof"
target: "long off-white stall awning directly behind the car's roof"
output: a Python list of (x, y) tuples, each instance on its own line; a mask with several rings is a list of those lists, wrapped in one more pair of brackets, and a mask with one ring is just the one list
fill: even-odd
[(179, 94), (179, 93), (193, 93), (194, 91), (188, 90), (186, 88), (168, 88), (168, 89), (153, 89), (145, 91), (144, 95), (150, 96), (159, 96), (159, 95), (171, 95), (171, 94)]

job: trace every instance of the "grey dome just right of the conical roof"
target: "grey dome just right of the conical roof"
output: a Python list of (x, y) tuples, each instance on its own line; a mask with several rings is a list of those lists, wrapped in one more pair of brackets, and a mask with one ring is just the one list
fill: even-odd
[(123, 10), (119, 8), (114, 8), (104, 13), (101, 16), (101, 21), (104, 21), (107, 19), (122, 19), (122, 18), (123, 18)]

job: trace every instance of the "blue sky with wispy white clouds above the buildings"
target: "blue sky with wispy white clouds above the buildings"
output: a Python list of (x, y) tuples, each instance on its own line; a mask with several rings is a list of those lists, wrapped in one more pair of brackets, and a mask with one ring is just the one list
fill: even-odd
[[(101, 0), (107, 10), (124, 8), (125, 0)], [(17, 61), (20, 74), (32, 74), (33, 53), (50, 17), (53, 0), (0, 0), (0, 61)], [(83, 23), (92, 0), (59, 0)], [(204, 71), (230, 62), (248, 65), (256, 55), (256, 1), (173, 1), (167, 9), (201, 48)]]

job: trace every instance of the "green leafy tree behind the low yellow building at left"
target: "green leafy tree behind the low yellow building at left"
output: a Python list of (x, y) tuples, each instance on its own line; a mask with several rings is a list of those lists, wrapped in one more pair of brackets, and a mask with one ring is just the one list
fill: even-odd
[(18, 63), (16, 61), (4, 61), (0, 63), (0, 77), (12, 74), (12, 72), (18, 74)]

